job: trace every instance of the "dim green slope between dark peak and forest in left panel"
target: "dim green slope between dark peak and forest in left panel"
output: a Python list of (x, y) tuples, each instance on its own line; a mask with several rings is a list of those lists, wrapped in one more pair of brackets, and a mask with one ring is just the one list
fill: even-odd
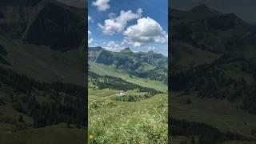
[(0, 36), (6, 50), (7, 69), (29, 75), (42, 82), (62, 81), (84, 85), (85, 52), (82, 47), (67, 52), (54, 51), (48, 46), (35, 46)]

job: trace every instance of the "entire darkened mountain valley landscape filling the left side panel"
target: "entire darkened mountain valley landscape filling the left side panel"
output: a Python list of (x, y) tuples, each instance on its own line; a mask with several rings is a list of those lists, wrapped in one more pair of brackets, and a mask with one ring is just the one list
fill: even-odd
[(0, 2), (0, 143), (84, 143), (85, 8)]

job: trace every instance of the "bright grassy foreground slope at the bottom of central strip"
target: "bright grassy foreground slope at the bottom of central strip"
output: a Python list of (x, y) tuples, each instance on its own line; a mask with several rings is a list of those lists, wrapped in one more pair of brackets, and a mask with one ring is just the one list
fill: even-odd
[(90, 107), (91, 144), (167, 143), (166, 94), (140, 102), (114, 103), (97, 109)]

